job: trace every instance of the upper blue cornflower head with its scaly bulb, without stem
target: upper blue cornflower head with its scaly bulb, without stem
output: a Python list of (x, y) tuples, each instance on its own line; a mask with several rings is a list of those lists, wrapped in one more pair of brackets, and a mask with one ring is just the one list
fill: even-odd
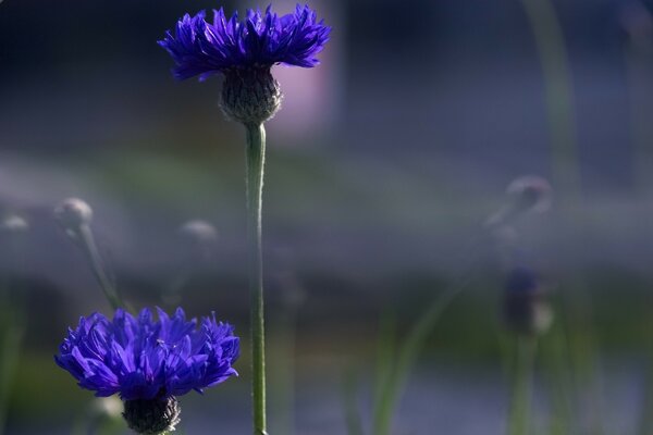
[(213, 11), (213, 23), (205, 17), (204, 11), (184, 15), (159, 45), (176, 63), (173, 74), (178, 79), (204, 80), (223, 73), (222, 109), (246, 125), (260, 125), (280, 108), (282, 94), (272, 65), (316, 66), (331, 33), (315, 11), (299, 4), (283, 16), (270, 5), (264, 14), (248, 10), (243, 21), (237, 13), (227, 20), (222, 9)]

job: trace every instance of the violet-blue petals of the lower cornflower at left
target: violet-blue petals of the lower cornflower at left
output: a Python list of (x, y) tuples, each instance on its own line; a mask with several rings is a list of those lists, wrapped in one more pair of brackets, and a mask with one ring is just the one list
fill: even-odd
[(118, 309), (113, 320), (94, 313), (69, 328), (54, 359), (96, 396), (149, 400), (201, 393), (237, 375), (232, 364), (239, 341), (214, 314), (197, 323), (181, 308), (173, 316), (158, 309), (158, 320), (149, 309), (137, 318)]

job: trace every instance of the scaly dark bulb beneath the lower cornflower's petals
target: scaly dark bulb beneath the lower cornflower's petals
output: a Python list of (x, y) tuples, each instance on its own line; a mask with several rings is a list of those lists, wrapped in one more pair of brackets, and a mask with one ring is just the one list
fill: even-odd
[(159, 435), (174, 431), (180, 422), (180, 403), (174, 396), (161, 399), (125, 400), (123, 417), (137, 434)]

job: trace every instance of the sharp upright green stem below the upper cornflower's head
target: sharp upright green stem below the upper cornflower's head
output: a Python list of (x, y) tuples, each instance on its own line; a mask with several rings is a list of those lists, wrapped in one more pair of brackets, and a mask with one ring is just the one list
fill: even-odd
[(261, 197), (266, 163), (266, 128), (262, 124), (247, 124), (245, 128), (247, 130), (247, 241), (249, 245), (254, 434), (266, 435), (266, 335), (261, 250)]

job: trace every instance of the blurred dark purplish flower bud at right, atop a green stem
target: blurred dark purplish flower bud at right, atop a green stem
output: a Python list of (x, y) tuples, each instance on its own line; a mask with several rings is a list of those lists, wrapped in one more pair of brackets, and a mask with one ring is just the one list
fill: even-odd
[(506, 278), (504, 320), (519, 334), (540, 335), (553, 322), (553, 311), (546, 291), (535, 273), (527, 268), (513, 269)]

